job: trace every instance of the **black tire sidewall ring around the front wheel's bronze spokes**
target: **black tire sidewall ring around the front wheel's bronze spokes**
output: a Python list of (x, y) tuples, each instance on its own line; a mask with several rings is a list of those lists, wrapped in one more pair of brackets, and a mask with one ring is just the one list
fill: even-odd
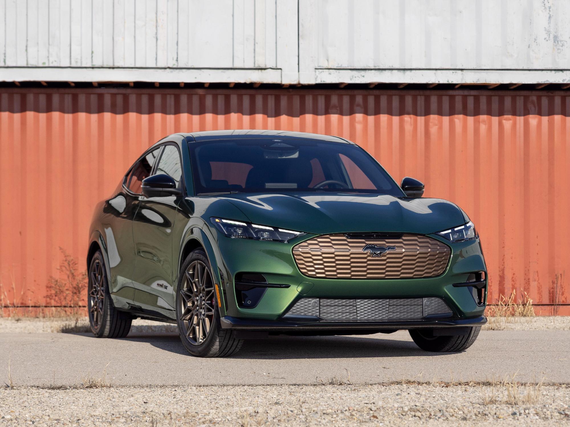
[(199, 346), (196, 346), (196, 345), (192, 344), (186, 338), (186, 336), (184, 334), (184, 328), (182, 327), (182, 321), (180, 320), (180, 314), (181, 314), (180, 313), (180, 298), (181, 298), (180, 291), (182, 289), (182, 285), (184, 284), (186, 269), (188, 269), (188, 266), (193, 261), (197, 261), (197, 260), (202, 261), (206, 265), (206, 268), (210, 271), (210, 275), (212, 277), (212, 280), (214, 279), (214, 274), (212, 272), (212, 269), (210, 266), (210, 261), (208, 260), (206, 253), (201, 251), (200, 249), (196, 249), (193, 252), (191, 252), (189, 254), (189, 256), (186, 258), (186, 260), (184, 261), (184, 264), (182, 264), (182, 268), (180, 269), (180, 274), (178, 274), (178, 285), (176, 288), (176, 323), (178, 325), (178, 334), (180, 334), (180, 339), (182, 341), (182, 344), (184, 344), (184, 347), (186, 347), (186, 350), (188, 350), (188, 352), (194, 356), (201, 356), (201, 355), (205, 354), (207, 352), (207, 350), (209, 350), (209, 348), (211, 346), (211, 342), (214, 339), (215, 335), (217, 334), (220, 323), (219, 323), (219, 310), (218, 310), (218, 295), (214, 291), (214, 298), (215, 298), (214, 319), (213, 319), (212, 325), (210, 327), (210, 331), (208, 333), (208, 336), (206, 337), (204, 342), (202, 344), (200, 344)]

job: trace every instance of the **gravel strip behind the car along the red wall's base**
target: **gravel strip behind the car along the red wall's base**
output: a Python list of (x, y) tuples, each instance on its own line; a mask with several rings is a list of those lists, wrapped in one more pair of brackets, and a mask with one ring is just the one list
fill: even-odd
[[(570, 330), (570, 316), (490, 317), (483, 330)], [(0, 318), (0, 332), (91, 332), (87, 317), (83, 318)], [(143, 319), (133, 321), (131, 335), (150, 332), (177, 332), (172, 323)]]

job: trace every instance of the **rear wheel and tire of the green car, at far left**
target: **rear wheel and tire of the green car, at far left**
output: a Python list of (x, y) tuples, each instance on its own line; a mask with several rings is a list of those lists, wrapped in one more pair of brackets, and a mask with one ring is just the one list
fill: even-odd
[(131, 330), (132, 319), (117, 310), (111, 300), (101, 251), (95, 252), (89, 265), (87, 309), (89, 325), (97, 338), (125, 338)]

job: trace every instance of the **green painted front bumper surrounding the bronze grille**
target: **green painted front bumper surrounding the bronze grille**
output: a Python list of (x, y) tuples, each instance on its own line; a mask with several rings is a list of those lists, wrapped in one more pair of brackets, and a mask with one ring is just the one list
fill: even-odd
[[(299, 243), (296, 240), (285, 244), (218, 237), (220, 258), (217, 264), (223, 273), (221, 282), (224, 295), (227, 295), (223, 314), (231, 318), (282, 322), (283, 315), (303, 298), (441, 298), (453, 312), (451, 318), (473, 319), (484, 314), (485, 306), (478, 305), (469, 288), (453, 285), (466, 282), (472, 272), (486, 271), (478, 239), (447, 242), (451, 247), (451, 258), (440, 276), (372, 280), (304, 276), (291, 252), (292, 247)], [(443, 241), (442, 237), (431, 237)], [(261, 273), (268, 283), (286, 285), (287, 288), (268, 288), (256, 306), (244, 307), (241, 305), (241, 291), (235, 289), (233, 282), (240, 272)]]

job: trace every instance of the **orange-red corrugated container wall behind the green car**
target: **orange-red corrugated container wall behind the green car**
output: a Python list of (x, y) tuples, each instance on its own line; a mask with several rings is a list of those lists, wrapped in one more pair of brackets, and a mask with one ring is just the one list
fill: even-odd
[(286, 129), (351, 139), (396, 180), (461, 206), (482, 237), (490, 302), (512, 289), (553, 302), (555, 274), (570, 273), (569, 116), (566, 92), (2, 89), (2, 291), (42, 302), (59, 247), (83, 267), (93, 205), (158, 139)]

